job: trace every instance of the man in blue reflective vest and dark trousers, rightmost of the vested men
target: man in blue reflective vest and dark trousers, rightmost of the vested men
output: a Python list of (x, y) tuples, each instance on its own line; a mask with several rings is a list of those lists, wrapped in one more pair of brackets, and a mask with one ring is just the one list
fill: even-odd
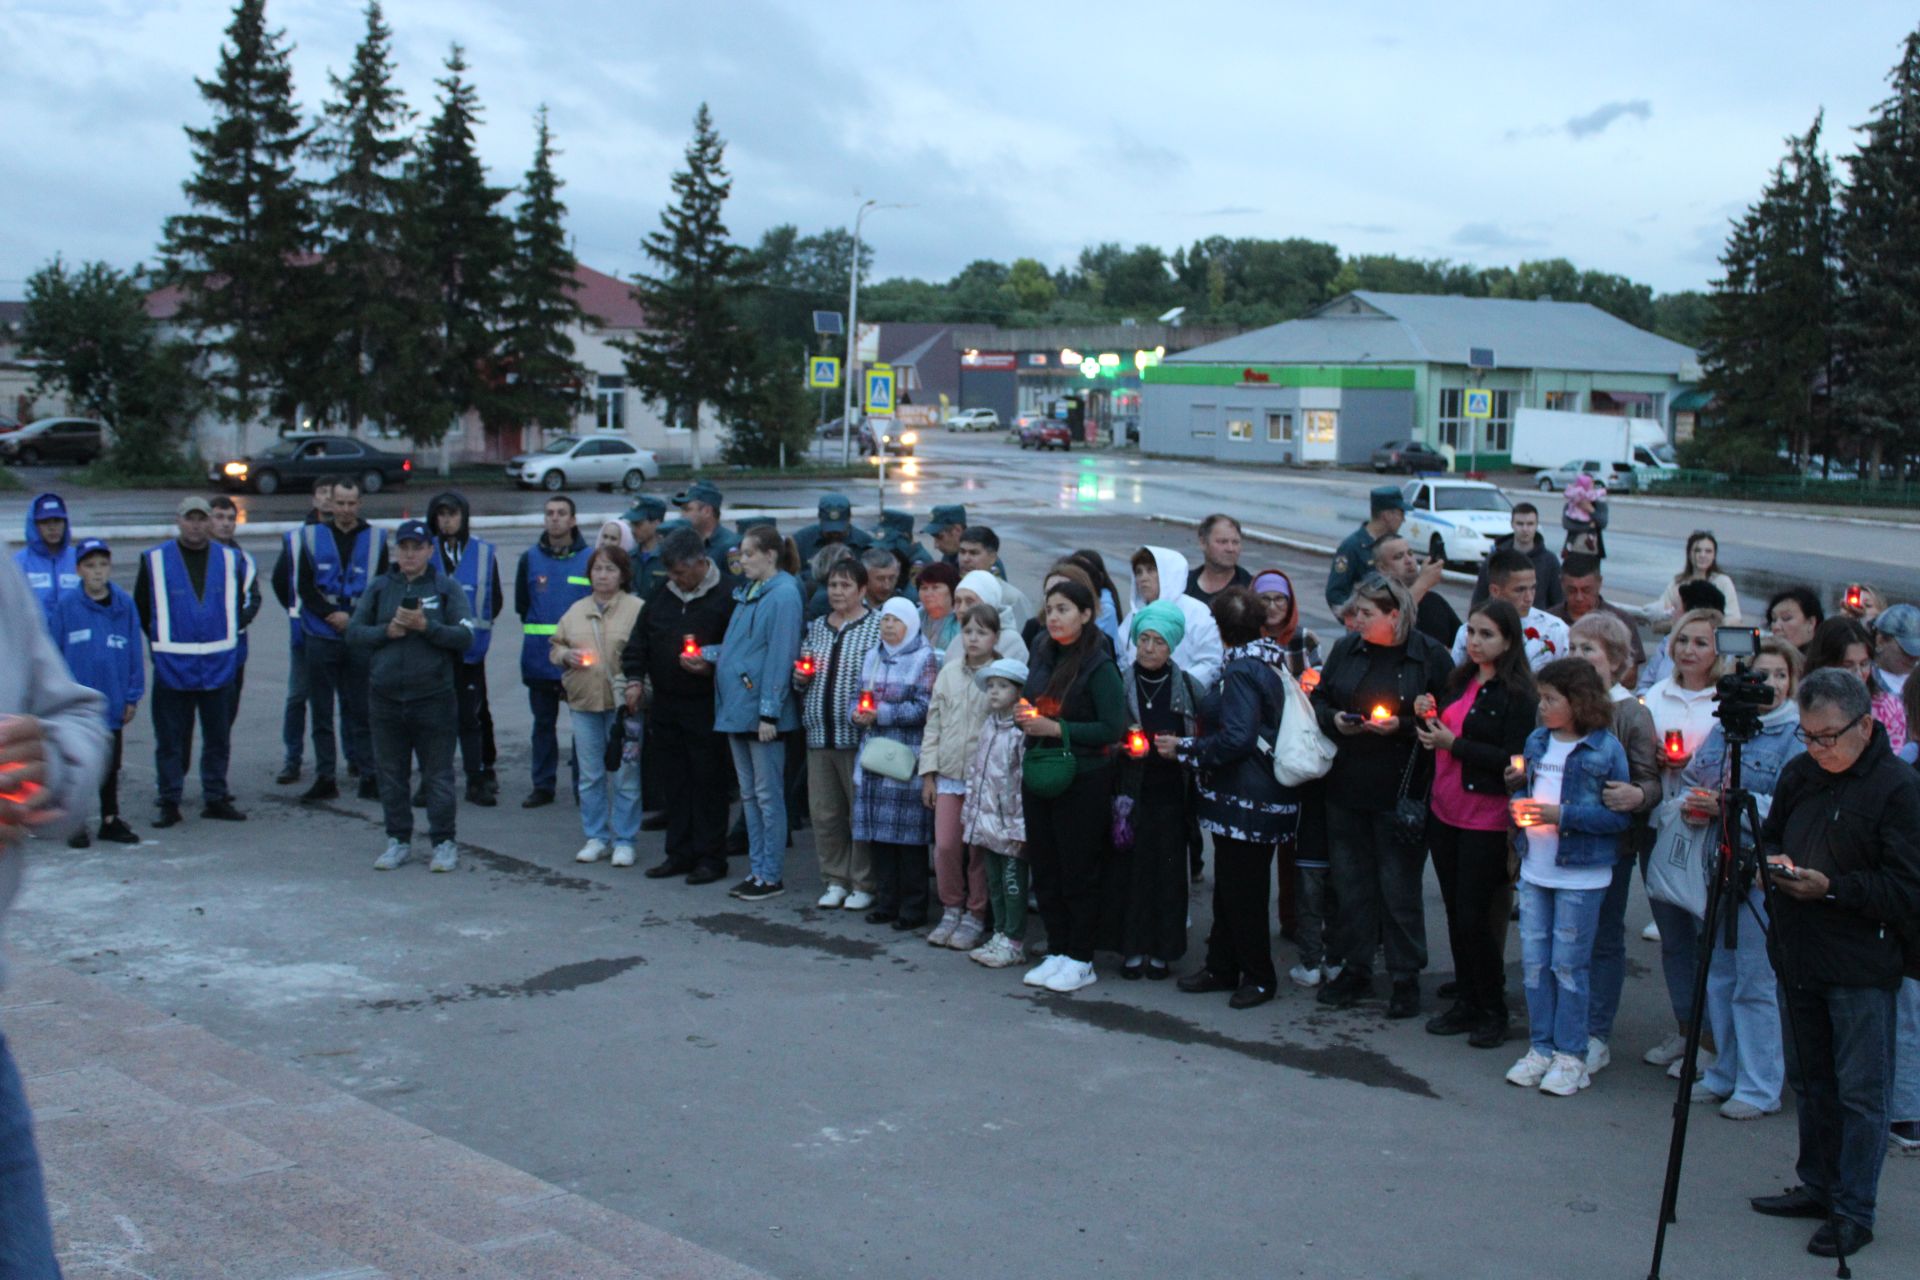
[[(520, 553), (520, 566), (513, 576), (513, 610), (520, 614), (522, 637), (520, 683), (526, 685), (526, 702), (534, 712), (534, 791), (520, 808), (553, 804), (553, 787), (561, 775), (557, 725), (564, 695), (561, 668), (547, 660), (547, 652), (561, 614), (593, 591), (588, 581), (593, 547), (580, 537), (574, 499), (555, 493), (543, 510), (545, 530), (538, 543)], [(574, 768), (578, 773), (578, 764)]]

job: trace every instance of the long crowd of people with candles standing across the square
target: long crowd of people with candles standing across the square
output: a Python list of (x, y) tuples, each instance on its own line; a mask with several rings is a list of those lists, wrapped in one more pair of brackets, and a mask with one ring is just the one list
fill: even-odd
[[(1131, 549), (1123, 591), (1081, 549), (1029, 595), (962, 507), (935, 507), (922, 545), (910, 514), (860, 530), (837, 493), (791, 537), (772, 520), (730, 528), (705, 482), (672, 501), (676, 520), (641, 497), (589, 535), (572, 499), (549, 497), (509, 601), (459, 493), (388, 533), (361, 518), (353, 480), (323, 480), (269, 574), (292, 639), (276, 781), (303, 779), (311, 739), (301, 798), (336, 798), (344, 756), (382, 804), (376, 869), (409, 862), (415, 808), (430, 869), (455, 869), (455, 756), (465, 802), (499, 802), (486, 654), (511, 606), (534, 723), (522, 806), (555, 802), (564, 702), (580, 862), (630, 867), (637, 835), (660, 831), (647, 877), (707, 885), (745, 854), (728, 892), (758, 902), (787, 892), (791, 833), (810, 825), (820, 908), (1029, 965), (1025, 984), (1069, 994), (1098, 981), (1102, 952), (1121, 979), (1175, 977), (1210, 846), (1212, 927), (1179, 990), (1233, 1009), (1279, 994), (1277, 875), (1279, 935), (1298, 952), (1286, 977), (1350, 1009), (1380, 994), (1384, 967), (1386, 1017), (1411, 1019), (1430, 858), (1453, 981), (1425, 1029), (1498, 1050), (1519, 1023), (1505, 1079), (1561, 1098), (1615, 1057), (1638, 877), (1674, 1019), (1644, 1061), (1678, 1079), (1705, 965), (1693, 1100), (1736, 1121), (1778, 1111), (1786, 1088), (1799, 1100), (1801, 1184), (1755, 1209), (1824, 1219), (1814, 1251), (1872, 1238), (1880, 1157), (1920, 1151), (1914, 604), (1849, 583), (1830, 608), (1788, 587), (1751, 620), (1768, 706), (1743, 747), (1763, 819), (1745, 839), (1778, 869), (1772, 894), (1741, 887), (1740, 906), (1776, 919), (1728, 946), (1703, 936), (1701, 910), (1740, 821), (1722, 804), (1716, 685), (1718, 631), (1745, 614), (1709, 532), (1636, 610), (1603, 595), (1590, 501), (1563, 514), (1559, 553), (1521, 503), (1461, 618), (1436, 591), (1444, 566), (1400, 537), (1400, 489), (1379, 487), (1325, 583), (1340, 633), (1319, 637), (1284, 572), (1240, 566), (1227, 514), (1200, 522), (1198, 564)], [(75, 679), (106, 700), (104, 841), (138, 841), (117, 768), (148, 695), (154, 825), (182, 821), (196, 720), (200, 814), (244, 819), (228, 731), (261, 581), (234, 514), (184, 499), (129, 597), (113, 551), (75, 541), (58, 495), (29, 510), (19, 566)]]

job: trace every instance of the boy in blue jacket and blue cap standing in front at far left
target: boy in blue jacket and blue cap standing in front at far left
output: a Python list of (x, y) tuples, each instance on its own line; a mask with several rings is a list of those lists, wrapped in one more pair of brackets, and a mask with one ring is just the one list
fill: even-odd
[[(79, 591), (63, 591), (54, 604), (54, 643), (67, 658), (73, 679), (98, 689), (108, 700), (108, 771), (100, 779), (100, 839), (115, 844), (138, 844), (140, 837), (119, 816), (121, 729), (132, 722), (132, 712), (146, 693), (146, 656), (140, 614), (132, 597), (115, 587), (113, 553), (98, 537), (83, 539), (71, 549), (79, 570)], [(86, 848), (86, 823), (67, 837), (73, 848)]]

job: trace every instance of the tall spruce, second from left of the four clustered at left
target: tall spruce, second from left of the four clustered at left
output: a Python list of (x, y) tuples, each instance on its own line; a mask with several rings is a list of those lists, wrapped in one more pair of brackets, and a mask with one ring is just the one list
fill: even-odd
[(432, 317), (420, 263), (405, 226), (411, 154), (407, 109), (394, 86), (392, 31), (378, 0), (367, 4), (367, 35), (342, 79), (328, 75), (315, 159), (321, 182), (324, 271), (309, 311), (326, 342), (309, 395), (321, 416), (357, 430), (363, 422), (413, 434), (430, 430)]

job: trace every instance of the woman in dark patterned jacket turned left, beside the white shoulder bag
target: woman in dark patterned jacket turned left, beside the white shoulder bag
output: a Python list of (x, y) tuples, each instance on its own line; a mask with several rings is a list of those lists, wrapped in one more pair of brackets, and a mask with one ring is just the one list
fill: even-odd
[(1273, 1000), (1273, 942), (1267, 894), (1275, 848), (1300, 825), (1294, 793), (1273, 777), (1273, 743), (1286, 687), (1273, 674), (1284, 652), (1261, 637), (1267, 606), (1246, 587), (1213, 597), (1225, 647), (1215, 693), (1200, 706), (1200, 737), (1160, 735), (1162, 756), (1200, 771), (1200, 829), (1213, 833), (1213, 929), (1206, 965), (1179, 981), (1188, 994), (1231, 990), (1235, 1009)]

